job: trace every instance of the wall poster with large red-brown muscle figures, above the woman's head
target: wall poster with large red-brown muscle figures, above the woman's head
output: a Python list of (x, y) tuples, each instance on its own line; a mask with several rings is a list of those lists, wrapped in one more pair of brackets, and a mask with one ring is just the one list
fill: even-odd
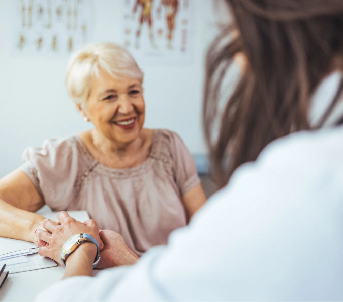
[(124, 46), (138, 63), (191, 62), (192, 0), (121, 0)]

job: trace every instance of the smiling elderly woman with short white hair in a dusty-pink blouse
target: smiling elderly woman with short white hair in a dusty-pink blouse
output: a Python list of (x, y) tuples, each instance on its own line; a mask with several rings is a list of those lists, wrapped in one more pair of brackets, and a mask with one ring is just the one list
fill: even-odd
[(27, 148), (24, 164), (0, 180), (0, 236), (37, 241), (44, 204), (86, 210), (138, 256), (167, 243), (206, 201), (195, 161), (179, 136), (143, 128), (143, 73), (114, 44), (72, 57), (67, 90), (92, 130)]

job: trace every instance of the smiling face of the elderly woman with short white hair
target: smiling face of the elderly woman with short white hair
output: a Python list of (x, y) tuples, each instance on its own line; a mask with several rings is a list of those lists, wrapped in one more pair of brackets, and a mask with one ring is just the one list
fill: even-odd
[(134, 141), (145, 119), (143, 89), (138, 79), (115, 79), (102, 70), (93, 77), (86, 103), (86, 116), (107, 139), (116, 143)]

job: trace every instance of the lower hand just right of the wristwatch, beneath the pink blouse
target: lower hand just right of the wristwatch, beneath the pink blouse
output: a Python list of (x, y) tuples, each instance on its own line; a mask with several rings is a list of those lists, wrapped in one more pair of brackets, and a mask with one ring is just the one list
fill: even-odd
[(104, 249), (100, 252), (101, 258), (97, 268), (132, 265), (139, 260), (120, 234), (110, 230), (101, 230), (100, 238), (104, 242)]

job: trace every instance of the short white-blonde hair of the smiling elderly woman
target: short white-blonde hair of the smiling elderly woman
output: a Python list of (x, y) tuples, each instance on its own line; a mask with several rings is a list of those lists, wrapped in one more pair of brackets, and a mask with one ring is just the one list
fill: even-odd
[(114, 78), (129, 77), (143, 83), (144, 74), (129, 51), (113, 43), (89, 44), (69, 61), (66, 75), (67, 92), (76, 105), (85, 107), (93, 76), (106, 70)]

